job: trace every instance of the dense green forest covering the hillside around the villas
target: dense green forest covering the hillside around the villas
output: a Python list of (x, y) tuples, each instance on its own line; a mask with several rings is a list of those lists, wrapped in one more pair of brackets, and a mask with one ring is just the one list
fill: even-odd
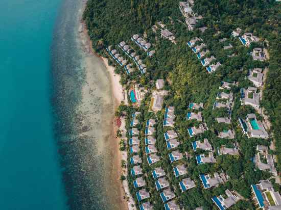
[[(221, 145), (227, 145), (233, 142), (229, 139), (220, 139), (215, 135), (215, 131), (221, 131), (228, 128), (229, 125), (220, 125), (215, 123), (216, 117), (227, 116), (227, 111), (223, 108), (213, 110), (213, 104), (219, 91), (218, 87), (221, 81), (238, 82), (238, 87), (232, 87), (231, 92), (234, 96), (234, 106), (232, 107), (231, 127), (235, 130), (236, 141), (240, 145), (241, 155), (239, 158), (230, 155), (217, 156), (217, 163), (196, 165), (195, 159), (184, 159), (183, 163), (188, 166), (189, 177), (196, 180), (199, 173), (216, 172), (224, 170), (230, 177), (225, 185), (218, 188), (203, 190), (200, 182), (197, 187), (185, 193), (181, 193), (178, 187), (178, 180), (172, 174), (172, 166), (168, 161), (168, 151), (163, 140), (163, 112), (156, 115), (148, 112), (149, 95), (143, 100), (138, 111), (143, 114), (140, 116), (139, 129), (144, 132), (145, 121), (149, 118), (158, 119), (156, 147), (161, 151), (161, 155), (166, 157), (156, 166), (162, 166), (170, 174), (171, 183), (177, 186), (175, 193), (178, 202), (184, 209), (194, 209), (203, 206), (204, 209), (216, 209), (210, 197), (220, 195), (225, 189), (233, 189), (239, 192), (245, 198), (250, 198), (250, 185), (259, 180), (269, 178), (268, 172), (260, 171), (254, 167), (251, 158), (255, 153), (255, 146), (262, 144), (269, 146), (270, 141), (264, 139), (248, 139), (242, 135), (241, 127), (238, 123), (238, 117), (244, 117), (249, 113), (256, 113), (252, 107), (241, 106), (239, 98), (240, 88), (253, 86), (245, 77), (248, 69), (268, 68), (266, 84), (263, 91), (261, 106), (266, 110), (271, 122), (271, 129), (268, 132), (273, 134), (276, 150), (270, 151), (276, 154), (278, 158), (277, 171), (281, 171), (281, 4), (275, 1), (265, 0), (196, 0), (194, 11), (203, 16), (198, 22), (198, 26), (205, 26), (207, 30), (202, 33), (200, 30), (189, 31), (184, 24), (184, 17), (181, 15), (178, 2), (174, 0), (89, 0), (83, 19), (89, 30), (93, 49), (101, 56), (107, 57), (105, 48), (109, 45), (116, 45), (121, 41), (126, 41), (137, 48), (133, 42), (129, 41), (133, 34), (146, 34), (147, 40), (153, 44), (156, 54), (153, 58), (147, 58), (146, 53), (137, 49), (137, 54), (146, 61), (148, 71), (145, 74), (133, 72), (127, 75), (123, 68), (116, 65), (116, 72), (122, 74), (122, 84), (130, 88), (129, 81), (140, 83), (148, 90), (155, 88), (158, 78), (164, 78), (166, 81), (165, 89), (170, 90), (169, 96), (165, 98), (165, 106), (175, 106), (176, 124), (175, 130), (179, 133), (179, 150), (189, 152), (194, 156), (200, 154), (200, 151), (192, 150), (191, 141), (208, 138), (214, 148)], [(162, 21), (167, 28), (173, 32), (177, 44), (169, 40), (161, 39), (159, 31), (152, 30), (152, 25), (157, 21)], [(252, 32), (260, 38), (259, 43), (251, 44), (249, 48), (244, 47), (237, 38), (231, 37), (231, 32), (236, 28), (241, 28), (243, 32)], [(214, 73), (208, 74), (205, 67), (202, 67), (192, 50), (186, 45), (186, 42), (194, 37), (201, 37), (210, 51), (222, 66)], [(219, 42), (220, 39), (227, 38), (226, 43), (231, 44), (233, 48), (223, 49), (226, 43)], [(270, 59), (266, 62), (253, 61), (249, 52), (254, 47), (267, 48)], [(235, 57), (229, 57), (235, 54)], [(115, 65), (109, 60), (111, 65)], [(129, 84), (129, 85), (128, 85)], [(203, 135), (191, 139), (188, 134), (188, 127), (196, 126), (196, 121), (185, 120), (186, 111), (190, 102), (204, 102), (203, 117), (209, 130)], [(135, 108), (133, 106), (121, 106), (121, 111), (128, 113), (127, 128), (129, 129), (129, 118)], [(257, 114), (259, 119), (262, 116)], [(140, 139), (143, 141), (143, 139)], [(140, 151), (140, 155), (144, 151)], [(145, 159), (143, 159), (144, 171), (149, 171)], [(151, 200), (154, 201), (155, 209), (162, 209), (163, 204), (151, 177), (147, 177), (148, 188), (152, 193)], [(242, 177), (242, 178), (241, 178)], [(127, 179), (132, 186), (133, 178), (128, 174)], [(271, 179), (274, 183), (274, 179)], [(276, 191), (281, 190), (280, 186), (274, 183)], [(135, 189), (131, 189), (132, 195), (135, 195)], [(255, 209), (250, 200), (239, 201), (230, 209)]]

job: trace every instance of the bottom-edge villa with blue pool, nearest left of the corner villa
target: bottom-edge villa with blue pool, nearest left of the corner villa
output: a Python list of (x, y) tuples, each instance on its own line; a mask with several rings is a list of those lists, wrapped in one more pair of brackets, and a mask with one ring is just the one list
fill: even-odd
[(220, 210), (227, 209), (237, 203), (240, 200), (240, 196), (236, 192), (225, 191), (225, 195), (214, 196), (213, 202), (218, 206)]

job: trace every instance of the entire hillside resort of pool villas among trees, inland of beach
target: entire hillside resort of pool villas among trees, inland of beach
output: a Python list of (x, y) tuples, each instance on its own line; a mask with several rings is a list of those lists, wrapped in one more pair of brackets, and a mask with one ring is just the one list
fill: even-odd
[[(156, 2), (117, 5), (118, 25), (95, 15), (103, 31), (90, 31), (128, 98), (115, 112), (128, 208), (281, 209), (279, 107), (266, 82), (279, 74), (268, 74), (272, 37), (252, 20), (263, 18), (257, 3)], [(96, 3), (96, 13), (114, 9)]]

